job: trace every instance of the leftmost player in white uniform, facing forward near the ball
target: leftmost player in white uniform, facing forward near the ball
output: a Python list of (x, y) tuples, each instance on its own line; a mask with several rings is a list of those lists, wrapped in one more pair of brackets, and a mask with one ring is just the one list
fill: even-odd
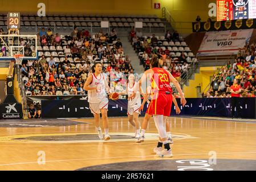
[(110, 136), (108, 134), (108, 96), (109, 86), (106, 78), (101, 73), (102, 65), (96, 63), (92, 67), (92, 75), (90, 75), (85, 84), (84, 90), (88, 91), (88, 102), (92, 114), (94, 114), (96, 130), (99, 134), (99, 138), (103, 139), (103, 134), (100, 128), (100, 113), (103, 120), (103, 127), (105, 131), (104, 140), (109, 140)]

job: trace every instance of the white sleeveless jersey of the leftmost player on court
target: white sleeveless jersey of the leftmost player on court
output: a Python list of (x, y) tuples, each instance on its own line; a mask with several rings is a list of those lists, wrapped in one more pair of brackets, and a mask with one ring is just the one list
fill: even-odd
[(104, 76), (101, 73), (100, 78), (97, 78), (94, 73), (92, 74), (92, 82), (89, 86), (97, 87), (97, 90), (88, 90), (88, 102), (99, 103), (108, 97), (105, 90)]

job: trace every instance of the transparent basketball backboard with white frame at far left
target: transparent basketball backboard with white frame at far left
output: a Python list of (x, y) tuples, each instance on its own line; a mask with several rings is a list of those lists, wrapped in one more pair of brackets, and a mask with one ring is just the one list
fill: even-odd
[(23, 59), (38, 59), (36, 35), (0, 35), (0, 60), (14, 60), (14, 54)]

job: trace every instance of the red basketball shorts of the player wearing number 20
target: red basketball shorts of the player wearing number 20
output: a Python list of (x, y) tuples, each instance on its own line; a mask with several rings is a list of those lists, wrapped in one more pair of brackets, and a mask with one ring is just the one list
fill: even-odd
[(169, 117), (172, 109), (172, 94), (165, 92), (157, 93), (156, 99), (149, 103), (147, 114), (149, 115), (164, 115)]

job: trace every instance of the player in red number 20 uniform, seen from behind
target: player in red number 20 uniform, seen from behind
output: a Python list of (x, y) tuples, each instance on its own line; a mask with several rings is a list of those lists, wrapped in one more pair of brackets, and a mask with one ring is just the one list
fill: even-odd
[[(172, 76), (172, 74), (170, 74), (170, 72), (163, 68), (159, 68), (159, 61), (157, 57), (152, 57), (150, 67), (151, 69), (144, 72), (136, 87), (144, 84), (151, 84), (153, 91), (151, 114), (153, 115), (156, 128), (160, 135), (159, 142), (157, 147), (154, 148), (154, 152), (161, 157), (172, 157), (172, 150), (170, 149), (170, 144), (168, 143), (165, 131), (164, 119), (164, 117), (169, 117), (172, 107), (172, 87), (170, 86), (170, 82), (173, 82), (178, 93), (180, 93), (181, 104), (183, 106), (186, 104), (186, 100), (178, 81)], [(135, 90), (138, 89), (135, 88)], [(135, 93), (131, 94), (129, 99), (132, 100), (134, 97)], [(147, 101), (147, 97), (145, 97), (144, 100)], [(143, 102), (145, 103), (145, 101)], [(162, 150), (162, 144), (164, 144), (164, 150)]]

